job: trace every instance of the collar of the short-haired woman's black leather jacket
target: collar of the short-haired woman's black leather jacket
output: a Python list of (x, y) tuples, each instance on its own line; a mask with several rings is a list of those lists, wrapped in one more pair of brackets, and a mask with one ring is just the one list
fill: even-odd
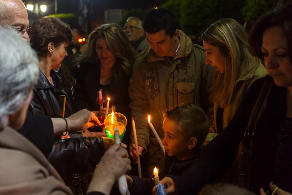
[[(46, 76), (39, 70), (39, 76), (37, 79), (36, 87), (37, 89), (49, 89), (54, 88), (54, 86), (49, 82), (49, 80), (46, 78)], [(61, 90), (64, 88), (65, 83), (63, 82), (62, 78), (60, 77), (59, 73), (55, 70), (51, 70), (51, 74), (55, 75), (55, 88)]]

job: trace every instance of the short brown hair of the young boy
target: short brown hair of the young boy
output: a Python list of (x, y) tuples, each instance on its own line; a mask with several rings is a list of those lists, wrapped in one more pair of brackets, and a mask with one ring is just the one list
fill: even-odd
[(205, 112), (192, 103), (182, 104), (164, 111), (164, 118), (176, 121), (185, 138), (195, 137), (200, 147), (209, 132), (209, 120)]

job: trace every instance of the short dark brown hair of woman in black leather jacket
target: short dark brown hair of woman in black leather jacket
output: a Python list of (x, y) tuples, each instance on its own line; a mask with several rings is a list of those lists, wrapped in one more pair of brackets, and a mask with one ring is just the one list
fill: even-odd
[(44, 17), (36, 20), (29, 32), (31, 46), (36, 50), (39, 58), (45, 57), (48, 51), (48, 44), (54, 43), (59, 46), (62, 42), (72, 41), (72, 32), (69, 24), (58, 18)]

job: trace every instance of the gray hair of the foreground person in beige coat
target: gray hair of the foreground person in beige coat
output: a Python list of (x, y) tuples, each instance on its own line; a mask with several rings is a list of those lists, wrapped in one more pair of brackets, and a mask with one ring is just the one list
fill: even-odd
[(38, 58), (29, 43), (8, 28), (0, 28), (0, 129), (17, 112), (38, 77)]

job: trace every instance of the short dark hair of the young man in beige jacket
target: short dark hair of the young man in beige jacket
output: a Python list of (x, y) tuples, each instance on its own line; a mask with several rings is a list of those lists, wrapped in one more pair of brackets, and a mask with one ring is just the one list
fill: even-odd
[(165, 34), (172, 38), (175, 31), (179, 29), (179, 21), (168, 9), (153, 8), (146, 16), (143, 22), (143, 28), (146, 33), (150, 34), (165, 30)]

